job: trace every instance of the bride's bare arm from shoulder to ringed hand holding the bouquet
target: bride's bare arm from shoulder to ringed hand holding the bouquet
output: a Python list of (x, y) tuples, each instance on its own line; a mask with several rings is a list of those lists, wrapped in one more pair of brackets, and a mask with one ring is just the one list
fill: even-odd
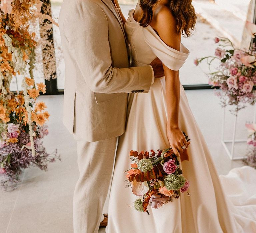
[[(150, 25), (158, 33), (160, 38), (169, 47), (180, 50), (181, 35), (176, 31), (176, 20), (169, 8), (162, 7), (152, 19)], [(179, 128), (179, 103), (180, 103), (180, 80), (179, 71), (174, 71), (163, 65), (166, 81), (167, 101), (167, 136), (171, 147), (176, 155), (183, 152), (181, 148), (187, 145), (185, 136)]]

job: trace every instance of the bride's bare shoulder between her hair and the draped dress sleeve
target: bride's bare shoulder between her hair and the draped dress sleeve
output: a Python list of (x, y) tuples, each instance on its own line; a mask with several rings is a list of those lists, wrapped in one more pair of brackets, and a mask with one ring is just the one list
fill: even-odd
[(177, 22), (170, 8), (165, 5), (156, 6), (150, 26), (168, 46), (179, 50), (181, 35), (177, 33)]

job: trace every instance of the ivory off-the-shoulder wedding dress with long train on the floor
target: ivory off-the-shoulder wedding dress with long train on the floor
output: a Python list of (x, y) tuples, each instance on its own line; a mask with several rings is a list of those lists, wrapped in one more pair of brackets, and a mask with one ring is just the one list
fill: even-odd
[[(178, 70), (189, 51), (168, 47), (150, 27), (140, 27), (130, 11), (125, 25), (131, 44), (133, 66), (144, 66), (158, 57), (167, 67)], [(189, 161), (182, 161), (183, 175), (190, 181), (188, 192), (159, 209), (137, 212), (138, 198), (125, 188), (125, 170), (130, 168), (130, 150), (165, 149), (167, 110), (165, 78), (155, 79), (149, 93), (129, 96), (126, 132), (119, 139), (110, 191), (108, 233), (253, 233), (256, 232), (256, 170), (244, 166), (221, 176), (222, 187), (206, 142), (189, 108), (180, 85), (180, 129), (191, 143)], [(244, 182), (246, 180), (246, 183)]]

